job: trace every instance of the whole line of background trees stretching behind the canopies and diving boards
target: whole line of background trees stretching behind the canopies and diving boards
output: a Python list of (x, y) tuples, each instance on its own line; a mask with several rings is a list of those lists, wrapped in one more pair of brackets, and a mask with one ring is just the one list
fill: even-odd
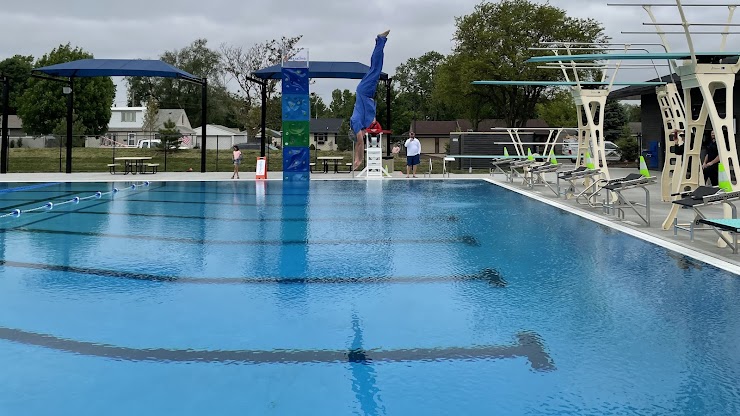
[[(436, 51), (409, 58), (395, 69), (391, 85), (392, 125), (397, 134), (409, 130), (417, 120), (467, 119), (474, 127), (484, 119), (503, 119), (521, 127), (532, 118), (543, 118), (553, 126), (575, 126), (576, 113), (567, 91), (542, 86), (482, 86), (476, 80), (563, 80), (560, 71), (540, 69), (525, 63), (531, 56), (550, 54), (542, 42), (608, 42), (601, 23), (573, 18), (549, 4), (531, 0), (484, 1), (472, 13), (455, 18), (453, 48), (448, 55)], [(301, 36), (268, 40), (245, 48), (222, 44), (211, 47), (196, 39), (178, 50), (166, 51), (159, 59), (198, 77), (208, 79), (208, 123), (247, 129), (254, 135), (260, 127), (259, 85), (250, 80), (259, 69), (277, 65), (285, 54), (295, 53)], [(23, 119), (29, 134), (66, 131), (66, 98), (59, 83), (30, 78), (32, 68), (93, 58), (70, 44), (60, 45), (39, 59), (16, 55), (0, 62), (0, 72), (10, 77), (11, 112)], [(387, 71), (386, 71), (387, 72)], [(588, 76), (588, 75), (587, 75)], [(182, 108), (191, 124), (203, 122), (200, 86), (169, 78), (126, 79), (127, 104), (158, 108)], [(115, 85), (109, 78), (75, 80), (75, 135), (100, 135), (107, 130)], [(385, 89), (378, 89), (378, 118), (385, 115)], [(267, 82), (266, 127), (281, 130), (278, 80)], [(331, 101), (311, 95), (316, 117), (348, 120), (354, 92), (334, 90)], [(637, 111), (624, 107), (628, 114)], [(630, 117), (634, 118), (634, 117)], [(344, 123), (341, 138), (346, 136)], [(620, 129), (621, 130), (621, 129)], [(342, 140), (340, 150), (349, 144)]]

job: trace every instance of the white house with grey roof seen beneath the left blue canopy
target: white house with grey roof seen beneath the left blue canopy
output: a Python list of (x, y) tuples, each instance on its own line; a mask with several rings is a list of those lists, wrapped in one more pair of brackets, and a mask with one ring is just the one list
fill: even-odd
[(88, 138), (86, 146), (99, 147), (112, 145), (113, 141), (121, 146), (136, 146), (139, 140), (154, 138), (159, 129), (164, 127), (167, 120), (175, 123), (177, 131), (183, 135), (183, 145), (190, 146), (190, 137), (194, 130), (190, 126), (185, 110), (160, 109), (153, 132), (144, 131), (144, 115), (146, 107), (113, 107), (111, 119), (108, 122), (108, 133), (104, 139)]

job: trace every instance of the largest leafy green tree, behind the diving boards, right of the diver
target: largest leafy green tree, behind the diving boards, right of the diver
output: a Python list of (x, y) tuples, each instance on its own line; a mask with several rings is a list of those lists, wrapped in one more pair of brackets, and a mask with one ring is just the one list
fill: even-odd
[(476, 80), (562, 79), (559, 71), (537, 69), (525, 61), (544, 51), (540, 42), (606, 42), (604, 29), (593, 19), (576, 19), (549, 4), (530, 0), (483, 2), (473, 13), (455, 19), (453, 52), (439, 66), (435, 96), (477, 125), (500, 117), (513, 127), (535, 115), (546, 87), (471, 85)]

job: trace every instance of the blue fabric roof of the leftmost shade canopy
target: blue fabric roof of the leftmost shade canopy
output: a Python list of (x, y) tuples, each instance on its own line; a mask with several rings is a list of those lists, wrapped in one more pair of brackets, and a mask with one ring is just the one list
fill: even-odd
[(159, 77), (202, 83), (201, 78), (159, 60), (81, 59), (34, 69), (56, 77)]

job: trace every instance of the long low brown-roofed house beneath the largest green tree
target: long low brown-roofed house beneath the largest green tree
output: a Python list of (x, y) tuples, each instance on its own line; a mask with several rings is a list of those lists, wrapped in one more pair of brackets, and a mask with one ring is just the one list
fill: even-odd
[[(421, 150), (425, 154), (445, 154), (448, 152), (450, 133), (452, 132), (490, 132), (494, 127), (507, 127), (503, 120), (483, 120), (478, 123), (478, 129), (473, 129), (469, 120), (418, 120), (411, 123), (409, 131), (416, 133), (416, 138), (421, 142)], [(544, 120), (529, 120), (525, 127), (543, 128), (549, 127)], [(547, 138), (547, 133), (541, 133)], [(404, 134), (404, 140), (408, 133)], [(544, 141), (544, 140), (543, 140)]]

